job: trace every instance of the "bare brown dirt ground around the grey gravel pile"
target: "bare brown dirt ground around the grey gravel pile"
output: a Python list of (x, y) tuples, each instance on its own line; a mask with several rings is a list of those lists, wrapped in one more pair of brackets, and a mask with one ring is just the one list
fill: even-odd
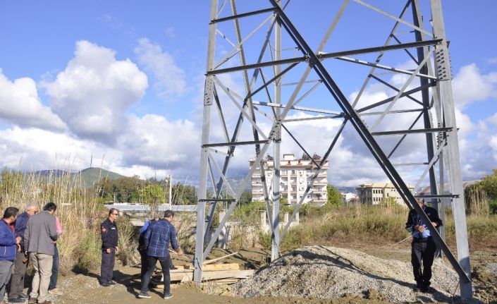
[[(345, 247), (345, 246), (344, 246)], [(388, 245), (349, 245), (348, 248), (361, 250), (375, 257), (392, 260), (409, 261), (410, 250), (408, 245), (400, 248), (391, 248)], [(240, 250), (240, 256), (228, 257), (223, 262), (237, 262), (242, 269), (258, 269), (266, 265), (270, 253), (258, 248)], [(211, 258), (226, 255), (223, 250), (214, 250)], [(477, 250), (472, 253), (472, 268), (474, 278), (474, 293), (477, 303), (497, 303), (497, 250)], [(191, 257), (174, 259), (175, 265), (188, 265)], [(137, 298), (140, 292), (140, 281), (135, 279), (135, 274), (140, 272), (140, 266), (116, 266), (114, 278), (115, 286), (102, 287), (98, 284), (98, 272), (83, 274), (70, 273), (59, 276), (59, 289), (62, 296), (51, 296), (54, 303), (157, 303), (164, 301), (161, 298), (162, 289), (151, 290), (152, 298)], [(257, 288), (257, 287), (254, 287)], [(283, 303), (386, 303), (381, 291), (371, 290), (360, 296), (345, 295), (341, 298), (320, 300), (317, 298), (235, 298), (226, 296), (230, 294), (228, 285), (204, 284), (202, 288), (195, 284), (171, 284), (173, 298), (168, 303), (200, 304), (200, 303), (258, 303), (258, 304), (283, 304)], [(26, 290), (25, 290), (26, 291)], [(223, 296), (221, 296), (223, 294)]]

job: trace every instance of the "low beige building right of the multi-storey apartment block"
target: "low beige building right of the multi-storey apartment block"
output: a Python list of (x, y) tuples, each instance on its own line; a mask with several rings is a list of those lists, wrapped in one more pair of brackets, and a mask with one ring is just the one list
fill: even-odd
[[(411, 185), (407, 185), (407, 187), (412, 193), (414, 187)], [(393, 197), (395, 202), (405, 205), (405, 202), (392, 183), (363, 183), (355, 189), (357, 190), (359, 201), (363, 204), (378, 205), (380, 202), (388, 199), (388, 197)]]

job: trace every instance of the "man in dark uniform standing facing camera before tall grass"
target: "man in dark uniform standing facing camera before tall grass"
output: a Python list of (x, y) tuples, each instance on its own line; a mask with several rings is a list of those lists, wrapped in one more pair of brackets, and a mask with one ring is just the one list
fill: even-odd
[(119, 236), (116, 224), (118, 215), (118, 209), (111, 208), (109, 210), (109, 218), (106, 219), (100, 226), (100, 232), (102, 233), (102, 266), (100, 267), (100, 285), (105, 287), (116, 284), (116, 282), (112, 280), (112, 274), (114, 262), (116, 262), (116, 254), (119, 253)]

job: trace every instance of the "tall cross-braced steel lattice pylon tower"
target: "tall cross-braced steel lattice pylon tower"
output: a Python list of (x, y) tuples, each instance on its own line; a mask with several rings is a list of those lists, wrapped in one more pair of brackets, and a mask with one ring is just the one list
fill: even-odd
[[(349, 124), (398, 190), (407, 207), (414, 208), (430, 231), (434, 231), (438, 248), (443, 251), (459, 274), (461, 296), (472, 298), (464, 193), (451, 87), (452, 75), (441, 0), (423, 2), (429, 2), (425, 11), (431, 13), (430, 23), (423, 22), (420, 0), (407, 0), (397, 15), (387, 13), (384, 9), (363, 0), (343, 0), (316, 49), (309, 47), (305, 37), (288, 17), (286, 7), (290, 1), (249, 2), (256, 2), (252, 6), (261, 7), (238, 11), (235, 0), (211, 0), (194, 260), (195, 281), (202, 281), (202, 263), (256, 170), (261, 176), (266, 214), (271, 227), (271, 258), (274, 260), (279, 256), (281, 239), (287, 233), (305, 198), (312, 191), (314, 181), (317, 180), (320, 169), (336, 146), (342, 130)], [(246, 4), (245, 1), (243, 4)], [(301, 3), (292, 5), (301, 5)], [(393, 28), (386, 35), (386, 41), (382, 45), (372, 47), (324, 52), (326, 42), (336, 30), (338, 21), (343, 18), (349, 6), (366, 8), (389, 20)], [(229, 27), (226, 26), (227, 23)], [(242, 32), (242, 23), (252, 30), (245, 36)], [(319, 25), (317, 20), (313, 20), (313, 23)], [(404, 28), (405, 32), (402, 32), (401, 28)], [(228, 30), (231, 35), (228, 34)], [(262, 41), (258, 41), (259, 44), (253, 41), (257, 32), (262, 32)], [(291, 44), (290, 49), (293, 50), (291, 56), (283, 56), (283, 52), (286, 51), (285, 54), (288, 54), (288, 50), (282, 47), (282, 37)], [(395, 51), (407, 56), (414, 68), (399, 68), (394, 64), (383, 63), (385, 56)], [(364, 55), (374, 56), (374, 60), (351, 57)], [(326, 66), (326, 62), (333, 59), (350, 65), (370, 67), (359, 92), (350, 100), (345, 97), (343, 90), (340, 90), (336, 80), (331, 77), (329, 66)], [(385, 73), (402, 75), (403, 78), (395, 78), (397, 80), (393, 83), (391, 81), (393, 78), (386, 80), (382, 77)], [(298, 75), (297, 81), (283, 83), (283, 79), (295, 78), (295, 75)], [(314, 79), (309, 80), (310, 77)], [(403, 80), (403, 85), (398, 85), (398, 79)], [(368, 100), (368, 104), (362, 103), (362, 98), (372, 81), (388, 87), (393, 95), (386, 99)], [(303, 104), (303, 100), (312, 98), (312, 93), (317, 87), (324, 87), (323, 90), (328, 97), (326, 102), (321, 103), (323, 107), (299, 106)], [(288, 91), (283, 94), (282, 90)], [(406, 100), (415, 107), (396, 107), (400, 103), (406, 103)], [(328, 106), (330, 107), (326, 109)], [(228, 107), (231, 107), (231, 110)], [(289, 113), (295, 112), (312, 115), (290, 117)], [(390, 126), (389, 129), (385, 128), (385, 118), (399, 114), (413, 114), (414, 119), (410, 121), (408, 127), (394, 123), (386, 125)], [(211, 119), (212, 117), (215, 119)], [(336, 128), (333, 140), (327, 142), (323, 157), (315, 161), (309, 154), (308, 148), (293, 135), (288, 125), (296, 121), (327, 119), (341, 119), (343, 122)], [(317, 170), (310, 176), (307, 188), (299, 197), (300, 200), (295, 205), (295, 212), (291, 215), (290, 221), (280, 229), (279, 165), (282, 132), (288, 133), (288, 138), (295, 141), (303, 153), (312, 160)], [(394, 164), (392, 159), (395, 152), (402, 145), (409, 144), (406, 139), (415, 134), (423, 135), (427, 161)], [(247, 135), (250, 135), (250, 138), (247, 138)], [(387, 147), (381, 141), (381, 138), (387, 137), (395, 137), (395, 145)], [(419, 145), (419, 142), (415, 142), (415, 145)], [(235, 188), (229, 178), (231, 166), (234, 166), (235, 150), (247, 147), (250, 147), (253, 153), (255, 165), (250, 167), (241, 186)], [(274, 174), (271, 176), (271, 181), (268, 181), (263, 157), (269, 152), (270, 147), (274, 154)], [(407, 166), (416, 166), (417, 169), (413, 171), (419, 173), (415, 188), (428, 178), (431, 194), (415, 196), (411, 193), (400, 174), (401, 169)], [(208, 183), (211, 184), (213, 192), (209, 195)], [(230, 198), (221, 198), (223, 189)], [(443, 199), (452, 201), (457, 258), (444, 242), (444, 231), (438, 231), (432, 226), (427, 215), (417, 204), (416, 197), (429, 200), (435, 207), (441, 209), (442, 215)], [(219, 202), (226, 202), (226, 214), (219, 219), (219, 226), (215, 229), (214, 235), (210, 236), (209, 231)]]

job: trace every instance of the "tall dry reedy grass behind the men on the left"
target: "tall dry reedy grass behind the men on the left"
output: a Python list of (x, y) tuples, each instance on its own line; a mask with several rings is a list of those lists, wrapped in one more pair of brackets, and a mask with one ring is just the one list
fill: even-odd
[[(56, 215), (63, 226), (63, 235), (57, 241), (61, 259), (60, 272), (97, 269), (102, 244), (99, 225), (106, 219), (108, 211), (99, 204), (96, 193), (83, 186), (81, 176), (63, 174), (54, 177), (21, 174), (6, 169), (1, 171), (1, 212), (9, 206), (18, 207), (23, 212), (29, 204), (38, 205), (41, 210), (47, 202), (57, 205)], [(123, 229), (121, 235), (123, 233), (124, 241), (130, 241), (125, 236), (128, 230)], [(127, 246), (127, 243), (122, 243), (121, 248)]]

